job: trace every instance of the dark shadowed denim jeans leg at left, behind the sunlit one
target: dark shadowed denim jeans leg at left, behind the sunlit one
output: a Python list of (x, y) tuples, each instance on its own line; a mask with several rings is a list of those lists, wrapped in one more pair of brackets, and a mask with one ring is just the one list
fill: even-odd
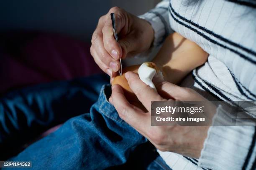
[(52, 126), (90, 112), (106, 83), (108, 76), (95, 75), (26, 87), (1, 97), (0, 160), (17, 154)]

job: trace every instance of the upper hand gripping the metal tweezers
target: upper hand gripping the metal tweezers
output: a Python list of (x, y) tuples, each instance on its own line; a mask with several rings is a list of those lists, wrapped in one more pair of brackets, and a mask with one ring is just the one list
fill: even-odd
[[(113, 36), (110, 13), (115, 13), (119, 44)], [(97, 65), (115, 77), (120, 68), (118, 59), (148, 50), (153, 40), (154, 30), (146, 20), (113, 7), (99, 19), (90, 51)]]

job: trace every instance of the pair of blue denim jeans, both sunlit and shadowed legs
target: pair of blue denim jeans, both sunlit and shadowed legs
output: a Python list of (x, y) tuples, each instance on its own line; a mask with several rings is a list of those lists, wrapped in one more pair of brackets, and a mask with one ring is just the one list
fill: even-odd
[[(147, 139), (124, 122), (108, 102), (108, 81), (108, 77), (97, 75), (29, 87), (2, 97), (0, 154), (6, 154), (1, 158), (31, 161), (33, 169), (115, 169), (136, 167), (134, 161), (143, 169), (169, 169), (156, 152), (149, 154), (154, 148)], [(64, 121), (54, 133), (19, 150), (39, 133)], [(144, 160), (150, 161), (145, 164)]]

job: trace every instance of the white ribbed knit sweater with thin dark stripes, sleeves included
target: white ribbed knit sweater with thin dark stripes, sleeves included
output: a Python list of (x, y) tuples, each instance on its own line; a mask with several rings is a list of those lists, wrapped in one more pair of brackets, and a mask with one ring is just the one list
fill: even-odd
[[(163, 0), (140, 18), (154, 28), (155, 46), (175, 31), (209, 54), (205, 65), (193, 70), (182, 86), (208, 100), (256, 101), (255, 0)], [(225, 110), (218, 107), (218, 114)], [(222, 119), (225, 116), (217, 116), (213, 123), (222, 125)], [(159, 154), (173, 170), (255, 170), (255, 145), (254, 126), (211, 126), (199, 160)]]

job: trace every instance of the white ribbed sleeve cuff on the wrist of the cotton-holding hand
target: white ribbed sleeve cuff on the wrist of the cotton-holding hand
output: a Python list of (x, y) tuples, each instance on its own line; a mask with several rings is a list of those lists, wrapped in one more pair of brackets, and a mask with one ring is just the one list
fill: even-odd
[[(256, 159), (255, 126), (223, 126), (229, 113), (219, 106), (198, 165), (217, 170), (251, 170)], [(253, 169), (254, 170), (254, 169)]]

